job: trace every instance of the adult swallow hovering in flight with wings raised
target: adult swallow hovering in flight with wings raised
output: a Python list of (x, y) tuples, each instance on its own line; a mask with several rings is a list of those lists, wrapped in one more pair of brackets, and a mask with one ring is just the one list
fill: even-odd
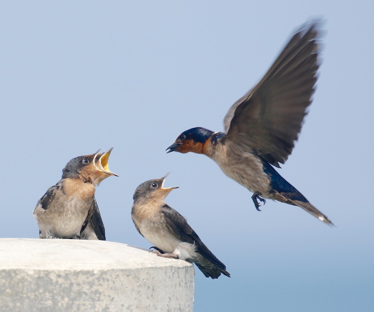
[[(287, 182), (281, 168), (298, 139), (312, 103), (319, 69), (319, 21), (306, 23), (291, 37), (265, 76), (230, 107), (224, 132), (202, 127), (181, 133), (166, 151), (204, 154), (229, 178), (247, 188), (258, 211), (265, 199), (299, 206), (332, 222)], [(258, 200), (260, 202), (258, 202)]]

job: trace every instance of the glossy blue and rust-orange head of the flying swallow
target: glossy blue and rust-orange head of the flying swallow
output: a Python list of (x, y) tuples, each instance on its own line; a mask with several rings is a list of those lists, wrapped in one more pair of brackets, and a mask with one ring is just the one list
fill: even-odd
[(174, 144), (170, 145), (170, 152), (188, 153), (194, 152), (197, 154), (203, 154), (203, 146), (205, 142), (212, 136), (213, 131), (205, 128), (191, 128), (182, 132), (175, 140)]

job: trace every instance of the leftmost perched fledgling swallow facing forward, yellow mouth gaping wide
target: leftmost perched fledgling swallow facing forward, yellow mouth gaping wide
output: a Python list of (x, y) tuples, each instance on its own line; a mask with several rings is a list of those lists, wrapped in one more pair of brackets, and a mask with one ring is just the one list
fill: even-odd
[(78, 156), (66, 164), (62, 178), (50, 187), (34, 209), (39, 238), (105, 240), (105, 228), (95, 199), (95, 186), (109, 176), (113, 148)]

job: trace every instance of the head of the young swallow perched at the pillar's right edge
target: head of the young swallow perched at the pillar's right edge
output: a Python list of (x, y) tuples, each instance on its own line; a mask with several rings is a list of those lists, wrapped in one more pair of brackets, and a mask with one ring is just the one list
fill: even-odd
[(140, 184), (135, 190), (133, 197), (134, 202), (164, 200), (172, 190), (178, 188), (177, 186), (167, 188), (163, 187), (167, 176), (168, 175), (161, 179), (148, 180)]

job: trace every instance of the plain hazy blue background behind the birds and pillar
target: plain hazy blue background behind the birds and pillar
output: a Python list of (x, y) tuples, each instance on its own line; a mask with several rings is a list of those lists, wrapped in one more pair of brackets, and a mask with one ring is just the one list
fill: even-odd
[[(306, 21), (325, 19), (318, 88), (281, 175), (327, 215), (267, 201), (217, 164), (166, 154), (229, 107)], [(131, 220), (142, 182), (227, 266), (195, 267), (194, 311), (372, 311), (373, 4), (370, 1), (1, 1), (0, 237), (38, 237), (33, 209), (71, 158), (114, 147), (96, 190), (107, 240), (148, 248)]]

